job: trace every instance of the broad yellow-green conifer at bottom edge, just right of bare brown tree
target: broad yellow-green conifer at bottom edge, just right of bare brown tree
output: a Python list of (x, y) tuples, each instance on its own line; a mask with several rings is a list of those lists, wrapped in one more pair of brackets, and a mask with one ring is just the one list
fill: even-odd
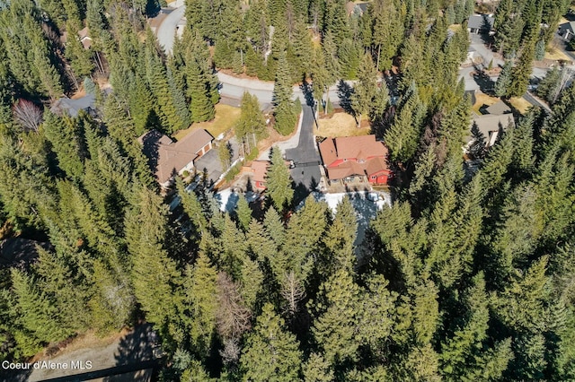
[(252, 381), (298, 378), (302, 354), (296, 336), (283, 326), (283, 319), (276, 315), (273, 306), (265, 304), (242, 354), (243, 378)]

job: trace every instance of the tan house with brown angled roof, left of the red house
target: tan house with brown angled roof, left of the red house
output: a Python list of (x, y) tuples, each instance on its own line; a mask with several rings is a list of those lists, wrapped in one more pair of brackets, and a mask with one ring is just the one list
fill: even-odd
[(174, 174), (192, 171), (194, 163), (212, 149), (214, 137), (206, 130), (195, 130), (178, 142), (157, 130), (150, 130), (137, 138), (162, 187), (170, 187)]

